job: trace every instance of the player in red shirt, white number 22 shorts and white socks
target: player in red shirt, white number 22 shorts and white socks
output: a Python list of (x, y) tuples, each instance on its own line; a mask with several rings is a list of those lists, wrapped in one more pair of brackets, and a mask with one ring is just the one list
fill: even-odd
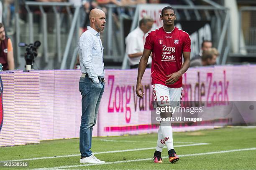
[[(154, 97), (157, 106), (163, 106), (172, 102), (178, 107), (182, 97), (182, 74), (190, 65), (190, 37), (189, 34), (174, 26), (176, 19), (172, 7), (164, 7), (160, 15), (164, 26), (148, 33), (138, 67), (136, 94), (143, 97), (142, 76), (145, 72), (148, 57), (153, 52), (151, 77)], [(184, 63), (182, 64), (182, 55)], [(160, 114), (166, 117), (166, 114)], [(161, 152), (166, 144), (169, 161), (175, 163), (179, 160), (173, 147), (172, 126), (160, 123), (154, 163), (162, 163)]]

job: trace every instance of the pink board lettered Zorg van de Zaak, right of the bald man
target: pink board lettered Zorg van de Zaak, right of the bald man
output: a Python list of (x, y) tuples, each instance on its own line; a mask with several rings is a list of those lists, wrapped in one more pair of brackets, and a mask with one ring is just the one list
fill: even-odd
[[(203, 114), (198, 115), (203, 121), (200, 126), (188, 126), (174, 121), (174, 131), (214, 128), (227, 125), (231, 119), (234, 122), (234, 117), (237, 117), (237, 110), (234, 108), (238, 107), (238, 104), (229, 101), (256, 100), (256, 78), (250, 74), (255, 72), (255, 69), (255, 65), (189, 68), (183, 75), (182, 100), (195, 101), (198, 107), (203, 107)], [(158, 126), (151, 122), (153, 94), (150, 75), (150, 69), (146, 69), (142, 80), (145, 97), (140, 99), (136, 97), (135, 92), (136, 69), (106, 72), (107, 83), (98, 117), (99, 136), (157, 131)], [(246, 119), (248, 112), (253, 110), (240, 109), (238, 113)], [(254, 122), (255, 112), (254, 117), (251, 115), (248, 119), (252, 118), (251, 121)], [(218, 124), (211, 124), (212, 121), (218, 121)], [(241, 119), (236, 121), (240, 123)]]

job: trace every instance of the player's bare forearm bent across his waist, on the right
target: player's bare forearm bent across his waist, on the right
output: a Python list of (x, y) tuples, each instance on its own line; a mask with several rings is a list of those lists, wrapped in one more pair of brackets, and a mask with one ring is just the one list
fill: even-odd
[(190, 52), (182, 52), (184, 63), (182, 64), (182, 67), (179, 71), (174, 72), (170, 75), (167, 75), (166, 77), (170, 77), (168, 80), (165, 81), (166, 85), (174, 84), (179, 80), (179, 77), (183, 75), (184, 72), (187, 71), (187, 69), (190, 66)]

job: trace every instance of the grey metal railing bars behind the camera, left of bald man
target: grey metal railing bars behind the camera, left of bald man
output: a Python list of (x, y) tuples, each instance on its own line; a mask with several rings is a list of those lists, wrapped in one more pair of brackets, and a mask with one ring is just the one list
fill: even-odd
[[(77, 42), (78, 40), (78, 28), (77, 27), (77, 21), (79, 19), (79, 8), (80, 7), (75, 7), (73, 6), (72, 3), (70, 2), (31, 2), (31, 1), (26, 1), (25, 2), (25, 8), (28, 13), (28, 39), (29, 43), (33, 43), (34, 41), (34, 22), (33, 22), (33, 11), (31, 10), (31, 7), (36, 7), (39, 9), (40, 14), (41, 14), (41, 25), (40, 25), (40, 30), (41, 30), (41, 35), (42, 35), (42, 47), (43, 48), (43, 57), (44, 57), (44, 63), (49, 63), (49, 40), (48, 40), (48, 26), (47, 25), (47, 13), (45, 12), (45, 7), (47, 8), (52, 8), (54, 12), (54, 18), (50, 18), (51, 20), (54, 20), (53, 23), (55, 23), (55, 32), (54, 36), (56, 37), (56, 61), (61, 63), (61, 67), (65, 68), (63, 65), (66, 64), (67, 56), (69, 55), (69, 52), (71, 50), (71, 44), (72, 40), (75, 40)], [(58, 10), (59, 8), (65, 8), (65, 13), (67, 14), (67, 21), (71, 23), (71, 26), (69, 27), (69, 34), (67, 38), (67, 43), (65, 45), (65, 50), (64, 53), (62, 53), (62, 48), (61, 45), (63, 45), (63, 40), (61, 40), (61, 22), (63, 21), (63, 16), (61, 17), (61, 13)], [(74, 8), (74, 15), (71, 12), (71, 9)], [(20, 24), (19, 24), (19, 13), (15, 13), (15, 39), (16, 39), (16, 54), (17, 54), (17, 59), (18, 63), (20, 63), (20, 47), (18, 47), (18, 43), (20, 42)], [(67, 22), (65, 20), (65, 22)], [(52, 26), (52, 25), (51, 25)], [(74, 35), (75, 28), (77, 28), (76, 32), (77, 34)], [(74, 53), (74, 52), (73, 52)], [(55, 56), (54, 56), (55, 57)], [(60, 65), (60, 64), (59, 64)]]

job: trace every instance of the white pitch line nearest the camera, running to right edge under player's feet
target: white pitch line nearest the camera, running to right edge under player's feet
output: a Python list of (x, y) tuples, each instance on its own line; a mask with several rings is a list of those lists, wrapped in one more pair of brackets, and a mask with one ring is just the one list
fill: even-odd
[[(197, 156), (197, 155), (210, 155), (210, 154), (218, 154), (218, 153), (230, 153), (230, 152), (239, 152), (245, 150), (256, 150), (256, 148), (245, 148), (245, 149), (236, 149), (236, 150), (221, 150), (217, 152), (208, 152), (208, 153), (195, 153), (195, 154), (187, 154), (187, 155), (179, 155), (179, 157), (186, 157), (186, 156)], [(163, 158), (168, 158), (163, 157)], [(137, 160), (123, 160), (123, 161), (114, 161), (102, 164), (82, 164), (82, 165), (69, 165), (69, 166), (59, 166), (59, 167), (52, 167), (52, 168), (38, 168), (33, 170), (56, 170), (62, 168), (74, 168), (74, 167), (83, 167), (83, 166), (93, 166), (93, 165), (108, 165), (108, 164), (117, 164), (117, 163), (129, 163), (129, 162), (137, 162), (143, 160), (152, 160), (152, 158), (145, 158), (145, 159), (137, 159)]]

